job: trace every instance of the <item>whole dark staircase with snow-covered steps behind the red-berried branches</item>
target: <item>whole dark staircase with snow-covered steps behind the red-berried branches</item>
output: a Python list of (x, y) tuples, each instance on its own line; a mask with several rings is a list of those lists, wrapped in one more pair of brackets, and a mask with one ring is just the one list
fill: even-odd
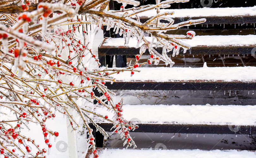
[[(95, 132), (97, 151), (101, 157), (256, 156), (256, 107), (253, 106), (256, 101), (256, 58), (253, 51), (256, 50), (256, 6), (248, 3), (241, 4), (245, 8), (234, 8), (236, 3), (227, 1), (221, 6), (222, 1), (215, 1), (212, 8), (200, 8), (200, 3), (195, 1), (175, 4), (174, 9), (171, 8), (175, 13), (175, 23), (198, 18), (207, 20), (203, 24), (167, 32), (186, 34), (192, 30), (197, 34), (194, 39), (186, 41), (192, 46), (191, 49), (186, 52), (180, 50), (178, 55), (172, 57), (175, 62), (173, 67), (166, 67), (161, 62), (157, 66), (146, 65), (136, 68), (140, 72), (135, 72), (132, 77), (131, 72), (115, 74), (116, 81), (105, 84), (118, 94), (117, 101), (127, 98), (123, 115), (139, 125), (130, 132), (138, 148), (122, 149), (122, 140), (118, 140), (119, 143), (116, 140), (120, 138), (118, 135), (113, 134), (108, 140), (103, 140), (103, 136)], [(224, 8), (216, 8), (216, 4)], [(113, 10), (119, 10), (118, 3), (112, 5)], [(190, 8), (191, 5), (197, 7)], [(150, 14), (140, 15), (141, 21), (149, 18)], [(103, 28), (105, 38), (98, 48), (101, 65), (133, 66), (135, 56), (139, 54), (139, 48), (135, 48), (136, 39), (130, 39), (129, 44), (124, 45), (123, 38), (117, 38), (112, 30)], [(161, 53), (162, 49), (159, 48), (158, 52)], [(146, 52), (140, 63), (149, 58), (149, 52)], [(156, 104), (144, 104), (145, 100), (153, 98), (156, 98)], [(177, 99), (180, 104), (173, 104)], [(97, 108), (96, 112), (106, 115), (104, 107)], [(113, 116), (111, 112), (107, 115), (109, 118)], [(111, 123), (101, 120), (98, 123), (105, 131), (112, 132)], [(162, 142), (153, 141), (151, 136), (154, 134), (161, 135), (160, 138), (163, 136)], [(148, 137), (152, 142), (146, 138), (148, 140), (143, 143), (146, 139), (142, 137)], [(173, 138), (175, 141), (182, 138), (182, 145)], [(193, 143), (196, 139), (203, 143)], [(87, 157), (89, 155), (90, 152)]]

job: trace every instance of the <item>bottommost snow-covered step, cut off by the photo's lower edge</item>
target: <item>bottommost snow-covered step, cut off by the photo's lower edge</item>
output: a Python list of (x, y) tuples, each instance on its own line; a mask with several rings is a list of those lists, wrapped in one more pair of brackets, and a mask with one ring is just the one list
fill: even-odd
[[(161, 144), (160, 144), (161, 145)], [(104, 158), (120, 157), (123, 158), (253, 158), (255, 151), (248, 150), (162, 150), (160, 149), (120, 149), (120, 148), (96, 148), (98, 155)], [(86, 158), (89, 158), (92, 151), (88, 151)]]

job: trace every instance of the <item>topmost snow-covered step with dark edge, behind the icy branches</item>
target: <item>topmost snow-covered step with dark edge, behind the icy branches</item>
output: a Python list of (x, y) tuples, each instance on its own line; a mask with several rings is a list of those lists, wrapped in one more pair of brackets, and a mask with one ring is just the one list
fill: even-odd
[[(256, 7), (239, 7), (239, 8), (190, 8), (190, 9), (161, 9), (160, 13), (174, 12), (171, 17), (175, 23), (183, 22), (191, 19), (206, 18), (203, 24), (222, 24), (225, 28), (229, 25), (236, 24), (235, 28), (240, 28), (240, 25), (251, 25), (255, 27), (256, 23)], [(202, 14), (204, 13), (204, 14)], [(145, 22), (149, 18), (155, 16), (156, 10), (149, 10), (138, 14), (141, 22)], [(200, 24), (199, 24), (200, 25)], [(207, 26), (208, 27), (208, 26)], [(248, 26), (249, 27), (249, 26)]]

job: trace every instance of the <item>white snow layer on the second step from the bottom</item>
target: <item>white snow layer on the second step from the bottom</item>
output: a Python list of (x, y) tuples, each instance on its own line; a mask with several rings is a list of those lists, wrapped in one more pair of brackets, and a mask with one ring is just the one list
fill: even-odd
[[(123, 105), (123, 116), (137, 124), (158, 125), (240, 125), (256, 126), (256, 106), (252, 105)], [(97, 113), (113, 117), (106, 107)], [(96, 119), (96, 118), (95, 118)], [(99, 120), (98, 120), (99, 122)], [(106, 123), (107, 121), (102, 121)]]

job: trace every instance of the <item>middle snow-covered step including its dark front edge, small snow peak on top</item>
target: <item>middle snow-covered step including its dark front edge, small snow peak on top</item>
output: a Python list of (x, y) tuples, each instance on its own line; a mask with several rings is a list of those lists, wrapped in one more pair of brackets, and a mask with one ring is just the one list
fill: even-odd
[(141, 67), (140, 72), (114, 74), (110, 89), (131, 90), (256, 90), (256, 67)]

